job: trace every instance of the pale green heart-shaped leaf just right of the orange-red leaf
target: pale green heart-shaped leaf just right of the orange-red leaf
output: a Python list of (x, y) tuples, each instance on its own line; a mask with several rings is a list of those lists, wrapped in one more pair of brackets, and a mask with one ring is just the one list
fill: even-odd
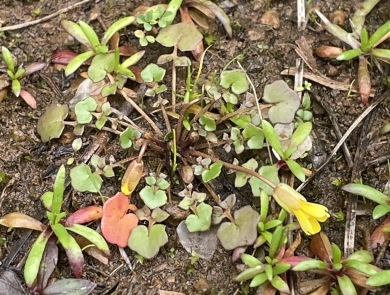
[(131, 231), (128, 245), (139, 255), (151, 259), (167, 242), (168, 235), (165, 231), (165, 225), (154, 224), (149, 232), (146, 226), (138, 225)]

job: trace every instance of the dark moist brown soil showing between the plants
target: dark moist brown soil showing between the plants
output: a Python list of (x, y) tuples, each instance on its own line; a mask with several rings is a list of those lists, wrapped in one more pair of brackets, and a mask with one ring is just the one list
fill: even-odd
[[(54, 0), (3, 0), (0, 1), (0, 23), (2, 26), (8, 26), (41, 18), (70, 5), (67, 2)], [(96, 7), (101, 11), (101, 22), (109, 25), (119, 18), (129, 15), (139, 5), (154, 5), (165, 1), (118, 0), (97, 2)], [(224, 7), (229, 6), (228, 4), (234, 4), (230, 8), (225, 8), (232, 21), (234, 36), (231, 39), (227, 38), (222, 25), (218, 21), (216, 25), (214, 24), (213, 35), (215, 44), (209, 50), (209, 54), (206, 55), (203, 74), (210, 76), (214, 71), (220, 72), (222, 67), (232, 58), (243, 54), (244, 58), (241, 64), (247, 70), (258, 94), (261, 95), (263, 93), (263, 88), (267, 83), (272, 83), (278, 79), (284, 79), (292, 87), (293, 78), (281, 76), (280, 73), (285, 68), (294, 67), (295, 60), (298, 57), (294, 50), (295, 40), (298, 39), (296, 2), (265, 0), (238, 0), (237, 2), (236, 4), (234, 4), (234, 1), (220, 3)], [(325, 15), (339, 8), (340, 5), (340, 1), (333, 0), (317, 2), (318, 7), (321, 7), (321, 11)], [(348, 18), (356, 7), (353, 3), (347, 1), (342, 1), (342, 4), (343, 7), (341, 9)], [(36, 9), (40, 9), (39, 16), (34, 15)], [(261, 23), (261, 16), (269, 9), (279, 12), (279, 29), (273, 29)], [(47, 62), (48, 66), (42, 73), (49, 78), (47, 81), (51, 80), (60, 89), (60, 92), (56, 93), (54, 87), (49, 85), (47, 81), (43, 83), (40, 76), (35, 76), (26, 81), (25, 86), (37, 99), (38, 108), (36, 110), (32, 110), (21, 99), (12, 95), (0, 104), (0, 216), (15, 211), (38, 218), (43, 218), (44, 216), (44, 209), (39, 198), (44, 192), (52, 190), (56, 170), (50, 169), (53, 167), (58, 168), (61, 163), (65, 163), (66, 159), (71, 156), (71, 154), (57, 156), (55, 152), (69, 144), (71, 139), (63, 135), (59, 140), (53, 140), (50, 146), (42, 144), (36, 132), (37, 120), (50, 104), (66, 104), (72, 98), (77, 87), (74, 86), (74, 82), (70, 88), (66, 87), (67, 81), (64, 80), (58, 69), (50, 63), (51, 54), (55, 49), (79, 51), (80, 46), (78, 42), (69, 37), (62, 29), (60, 20), (66, 18), (73, 21), (88, 21), (91, 13), (94, 11), (96, 11), (95, 3), (91, 1), (49, 21), (15, 31), (7, 31), (0, 36), (1, 44), (7, 46), (17, 56), (19, 64), (27, 64), (32, 61)], [(366, 25), (368, 31), (373, 32), (380, 24), (383, 24), (388, 19), (388, 13), (389, 4), (387, 1), (382, 1), (367, 17)], [(97, 20), (92, 20), (90, 23), (98, 34), (101, 35), (103, 33), (101, 23)], [(345, 23), (344, 27), (349, 30), (348, 21)], [(137, 39), (131, 34), (129, 29), (121, 31), (121, 34), (121, 43), (132, 45), (140, 50), (139, 45), (137, 45)], [(305, 31), (305, 37), (311, 48), (321, 45), (345, 47), (343, 43), (335, 40), (328, 33), (318, 30), (318, 26), (313, 22), (309, 22), (309, 27)], [(387, 42), (387, 45), (389, 45), (389, 42)], [(268, 47), (268, 49), (261, 50), (260, 47)], [(157, 45), (146, 48), (146, 54), (141, 60), (140, 66), (155, 62), (157, 56), (167, 52), (169, 51), (162, 50)], [(188, 56), (190, 57), (190, 55)], [(320, 71), (323, 74), (327, 74), (327, 67), (329, 67), (330, 61), (317, 58), (316, 62)], [(196, 71), (198, 63), (194, 62), (193, 64), (193, 70)], [(333, 77), (334, 79), (343, 81), (346, 84), (356, 79), (356, 60), (333, 64), (332, 66), (336, 67), (338, 71), (338, 74)], [(386, 68), (385, 65), (384, 67)], [(170, 68), (167, 72), (170, 72)], [(185, 85), (183, 80), (185, 75), (185, 70), (178, 71), (179, 91)], [(379, 95), (382, 91), (383, 77), (377, 68), (374, 68), (371, 77)], [(170, 75), (167, 75), (167, 84), (169, 84), (169, 79)], [(365, 106), (362, 105), (357, 95), (348, 96), (346, 92), (333, 90), (314, 82), (312, 84), (313, 122), (316, 133), (320, 138), (319, 144), (323, 144), (329, 153), (338, 143), (338, 138), (335, 135), (329, 114), (321, 107), (319, 101), (327, 104), (342, 134), (364, 111)], [(42, 87), (42, 85), (45, 86)], [(167, 99), (170, 98), (169, 92), (166, 92), (164, 95), (166, 95)], [(152, 110), (150, 106), (154, 102), (146, 100), (144, 103), (146, 111), (150, 112)], [(381, 136), (378, 133), (380, 128), (390, 121), (387, 101), (379, 105), (377, 109), (374, 124), (369, 130), (371, 132), (371, 141), (367, 146), (363, 159), (361, 159), (359, 172), (361, 172), (361, 177), (365, 184), (384, 190), (389, 178), (386, 163), (379, 165), (365, 164), (389, 154), (390, 146), (387, 136)], [(134, 119), (138, 116), (136, 112), (133, 112), (130, 117)], [(155, 120), (163, 122), (162, 118), (159, 117), (155, 117)], [(141, 121), (137, 122), (145, 124)], [(175, 124), (175, 122), (172, 124)], [(346, 145), (352, 154), (352, 159), (354, 158), (358, 139), (361, 136), (360, 130), (362, 126), (363, 124), (360, 124), (346, 141)], [(66, 129), (65, 134), (71, 134), (71, 130)], [(96, 135), (96, 130), (88, 129), (83, 135), (83, 142), (91, 144)], [(131, 153), (127, 153), (120, 148), (117, 139), (115, 137), (105, 147), (103, 155), (107, 159), (110, 155), (113, 155), (117, 161), (131, 156)], [(230, 162), (235, 157), (235, 155), (223, 153), (220, 156)], [(248, 159), (250, 157), (248, 156)], [(155, 167), (155, 163), (148, 161), (145, 170), (148, 172), (151, 170), (155, 171)], [(118, 169), (116, 172), (118, 175), (121, 175), (123, 170)], [(164, 167), (162, 172), (166, 172)], [(226, 179), (227, 182), (230, 181), (230, 187), (232, 187), (232, 178), (227, 175)], [(324, 172), (312, 181), (302, 191), (302, 194), (310, 201), (324, 204), (329, 208), (331, 218), (323, 225), (323, 229), (332, 242), (343, 247), (345, 222), (337, 219), (335, 214), (346, 212), (346, 195), (339, 187), (332, 185), (331, 182), (335, 179), (340, 179), (343, 184), (351, 181), (350, 168), (341, 150), (337, 153), (335, 160), (331, 161)], [(223, 181), (218, 182), (222, 183)], [(143, 181), (140, 183), (140, 186), (142, 185)], [(112, 196), (118, 191), (119, 187), (118, 179), (110, 179), (104, 182), (102, 193)], [(214, 187), (222, 197), (231, 193), (229, 185), (220, 186), (219, 188), (217, 186)], [(203, 190), (201, 184), (197, 188)], [(173, 190), (175, 189), (173, 188)], [(177, 192), (178, 188), (177, 191), (173, 191), (174, 194)], [(69, 191), (69, 189), (66, 193), (68, 194), (66, 208), (69, 212), (100, 202), (98, 196), (89, 193), (78, 193)], [(141, 205), (137, 194), (133, 194), (132, 200), (137, 205)], [(213, 204), (211, 197), (210, 203)], [(248, 188), (240, 190), (239, 203), (241, 205), (253, 204), (253, 197)], [(46, 221), (44, 218), (42, 220)], [(366, 249), (363, 238), (364, 232), (360, 228), (372, 231), (377, 223), (373, 222), (369, 216), (358, 216), (357, 220), (358, 229), (356, 232), (355, 249)], [(91, 224), (90, 226), (96, 228), (97, 224)], [(33, 233), (26, 243), (22, 243), (19, 250), (15, 250), (14, 246), (20, 242), (22, 237), (26, 236), (26, 232), (26, 230), (21, 229), (7, 232), (6, 228), (0, 228), (0, 237), (5, 240), (5, 243), (0, 246), (0, 260), (3, 261), (4, 267), (16, 271), (21, 278), (26, 255), (30, 250), (31, 243), (37, 236), (36, 233)], [(239, 271), (231, 261), (231, 252), (225, 251), (219, 246), (210, 261), (200, 259), (191, 266), (190, 255), (180, 245), (175, 227), (168, 225), (167, 232), (169, 242), (154, 259), (145, 260), (143, 264), (137, 264), (134, 253), (128, 248), (126, 249), (127, 255), (135, 266), (134, 272), (129, 270), (115, 246), (111, 246), (112, 257), (107, 266), (86, 256), (83, 278), (98, 284), (93, 294), (111, 294), (116, 292), (115, 294), (144, 295), (158, 294), (159, 290), (182, 292), (184, 294), (232, 295), (256, 293), (254, 289), (251, 289), (249, 293), (244, 293), (244, 288), (239, 283), (234, 282), (234, 278)], [(309, 241), (310, 237), (303, 237), (298, 254), (312, 255), (308, 248)], [(11, 257), (11, 254), (16, 254), (16, 256)], [(380, 266), (388, 268), (387, 258), (388, 252), (385, 254), (386, 260), (382, 260)], [(9, 263), (10, 260), (12, 260), (11, 263)], [(60, 253), (56, 276), (58, 278), (72, 277), (63, 252)]]

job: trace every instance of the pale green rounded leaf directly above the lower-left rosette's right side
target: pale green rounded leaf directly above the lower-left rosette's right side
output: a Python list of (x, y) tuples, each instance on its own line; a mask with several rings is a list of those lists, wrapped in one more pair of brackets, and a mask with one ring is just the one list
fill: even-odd
[(86, 164), (80, 164), (70, 170), (70, 179), (75, 190), (97, 193), (100, 191), (103, 179)]

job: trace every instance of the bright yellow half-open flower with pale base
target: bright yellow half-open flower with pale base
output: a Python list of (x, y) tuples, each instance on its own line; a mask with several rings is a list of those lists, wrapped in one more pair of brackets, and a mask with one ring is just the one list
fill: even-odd
[(283, 209), (297, 217), (306, 234), (313, 235), (321, 231), (318, 221), (324, 222), (329, 217), (328, 208), (307, 202), (300, 193), (285, 183), (276, 186), (273, 196)]

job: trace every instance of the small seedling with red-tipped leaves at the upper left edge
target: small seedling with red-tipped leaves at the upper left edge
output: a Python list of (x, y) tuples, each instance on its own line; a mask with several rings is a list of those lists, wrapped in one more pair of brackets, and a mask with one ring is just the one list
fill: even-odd
[(0, 101), (4, 99), (10, 88), (16, 97), (21, 96), (30, 107), (36, 109), (37, 102), (35, 98), (25, 89), (22, 89), (20, 82), (25, 77), (43, 69), (46, 66), (46, 63), (34, 62), (25, 69), (21, 67), (16, 69), (12, 54), (5, 46), (2, 46), (2, 59), (7, 64), (7, 76), (0, 76)]

